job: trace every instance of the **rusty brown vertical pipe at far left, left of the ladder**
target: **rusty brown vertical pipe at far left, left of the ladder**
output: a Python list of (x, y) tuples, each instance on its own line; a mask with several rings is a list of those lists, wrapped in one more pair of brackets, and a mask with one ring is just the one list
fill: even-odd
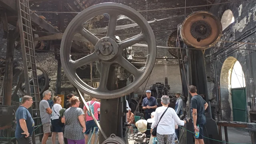
[(12, 74), (15, 48), (15, 30), (9, 30), (6, 47), (6, 68), (4, 75), (4, 105), (11, 105), (12, 101)]

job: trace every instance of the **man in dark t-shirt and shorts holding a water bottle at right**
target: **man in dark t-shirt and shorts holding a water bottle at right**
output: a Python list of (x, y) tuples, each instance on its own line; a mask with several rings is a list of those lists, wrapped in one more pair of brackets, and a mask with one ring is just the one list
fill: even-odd
[[(206, 118), (204, 111), (206, 110), (208, 104), (207, 102), (198, 95), (196, 90), (196, 86), (190, 85), (189, 86), (189, 93), (191, 94), (191, 116), (192, 116), (192, 122), (193, 122), (193, 128), (195, 132), (199, 131), (199, 137), (195, 138), (195, 144), (204, 144), (204, 132), (203, 127), (206, 124)], [(199, 130), (197, 128), (197, 125), (199, 125)], [(194, 135), (195, 136), (195, 135)]]

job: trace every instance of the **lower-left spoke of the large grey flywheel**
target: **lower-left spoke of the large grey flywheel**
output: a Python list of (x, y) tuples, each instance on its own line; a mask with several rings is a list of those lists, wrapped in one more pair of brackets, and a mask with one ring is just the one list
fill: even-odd
[(76, 60), (76, 61), (72, 61), (73, 63), (73, 66), (74, 66), (74, 69), (77, 69), (81, 66), (84, 66), (85, 64), (89, 64), (91, 62), (95, 62), (96, 60), (98, 60), (98, 57), (97, 55), (94, 53), (88, 55), (88, 56), (85, 56), (83, 58), (80, 58), (79, 60)]

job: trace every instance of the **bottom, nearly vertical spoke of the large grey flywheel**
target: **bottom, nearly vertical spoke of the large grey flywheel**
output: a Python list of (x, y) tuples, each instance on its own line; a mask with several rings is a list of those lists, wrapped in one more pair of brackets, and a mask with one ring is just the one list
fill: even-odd
[(108, 82), (108, 73), (111, 64), (102, 62), (101, 73), (100, 73), (100, 84), (97, 90), (106, 91), (107, 90), (107, 82)]

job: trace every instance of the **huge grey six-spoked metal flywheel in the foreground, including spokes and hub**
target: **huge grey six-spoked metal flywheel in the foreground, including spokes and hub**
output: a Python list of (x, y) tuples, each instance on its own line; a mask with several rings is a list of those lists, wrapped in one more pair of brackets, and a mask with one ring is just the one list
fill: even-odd
[[(86, 30), (83, 25), (87, 20), (90, 20), (90, 18), (105, 13), (110, 15), (108, 31), (106, 37), (99, 39)], [(140, 26), (141, 33), (126, 40), (116, 40), (115, 31), (118, 15), (124, 15), (131, 18), (138, 24), (138, 26)], [(76, 33), (81, 34), (91, 42), (95, 46), (95, 51), (84, 58), (74, 61), (70, 58), (70, 49), (73, 37)], [(145, 67), (139, 70), (122, 56), (122, 51), (141, 41), (146, 41), (148, 44), (148, 58)], [(96, 4), (80, 12), (70, 22), (62, 37), (60, 58), (66, 76), (76, 88), (96, 98), (119, 98), (133, 92), (148, 78), (156, 60), (156, 41), (152, 28), (146, 19), (136, 10), (116, 3)], [(87, 85), (76, 74), (77, 68), (95, 61), (98, 61), (99, 64), (101, 64), (100, 83), (98, 88), (92, 88)], [(124, 88), (108, 90), (107, 82), (110, 66), (115, 63), (133, 74), (135, 81)]]

